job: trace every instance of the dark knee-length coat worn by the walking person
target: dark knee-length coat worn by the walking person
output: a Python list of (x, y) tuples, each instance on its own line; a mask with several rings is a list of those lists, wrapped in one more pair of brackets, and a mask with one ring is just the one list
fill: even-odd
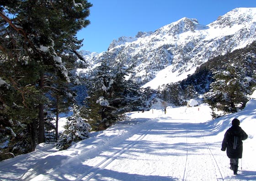
[(242, 158), (243, 142), (248, 135), (238, 125), (231, 126), (225, 133), (222, 141), (221, 150), (227, 149), (227, 156), (229, 158)]

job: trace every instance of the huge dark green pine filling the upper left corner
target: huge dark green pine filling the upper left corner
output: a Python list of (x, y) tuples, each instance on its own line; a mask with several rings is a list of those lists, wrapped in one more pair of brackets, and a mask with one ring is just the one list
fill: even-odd
[[(44, 109), (51, 90), (47, 76), (71, 81), (69, 68), (81, 44), (75, 35), (90, 23), (85, 18), (91, 6), (87, 0), (0, 2), (0, 78), (12, 88), (17, 105), (13, 108), (10, 98), (0, 95), (8, 105), (2, 112), (26, 124), (31, 150), (44, 142)], [(15, 116), (19, 111), (22, 114)]]

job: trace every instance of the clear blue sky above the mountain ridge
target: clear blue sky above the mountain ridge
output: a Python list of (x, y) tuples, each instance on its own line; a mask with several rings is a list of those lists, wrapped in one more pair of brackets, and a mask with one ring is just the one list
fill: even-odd
[(139, 31), (155, 31), (183, 17), (208, 25), (237, 7), (256, 7), (256, 0), (88, 0), (93, 4), (87, 18), (91, 24), (80, 30), (80, 50), (107, 51), (114, 39), (134, 37)]

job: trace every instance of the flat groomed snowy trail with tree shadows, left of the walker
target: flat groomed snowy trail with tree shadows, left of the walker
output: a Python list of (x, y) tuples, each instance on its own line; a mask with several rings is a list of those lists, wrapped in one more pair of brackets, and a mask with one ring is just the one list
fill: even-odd
[(86, 172), (76, 180), (224, 180), (202, 124), (185, 122), (167, 117), (150, 123), (123, 143), (83, 161)]

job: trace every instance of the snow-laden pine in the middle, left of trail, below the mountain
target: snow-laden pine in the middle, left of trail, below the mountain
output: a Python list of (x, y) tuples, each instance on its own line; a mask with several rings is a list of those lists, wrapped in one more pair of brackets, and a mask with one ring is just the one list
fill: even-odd
[(88, 80), (89, 97), (86, 99), (86, 110), (93, 119), (96, 130), (105, 130), (111, 126), (124, 112), (131, 111), (135, 104), (138, 106), (139, 99), (139, 87), (126, 80), (130, 71), (128, 66), (121, 61), (113, 61), (109, 53), (104, 57)]

